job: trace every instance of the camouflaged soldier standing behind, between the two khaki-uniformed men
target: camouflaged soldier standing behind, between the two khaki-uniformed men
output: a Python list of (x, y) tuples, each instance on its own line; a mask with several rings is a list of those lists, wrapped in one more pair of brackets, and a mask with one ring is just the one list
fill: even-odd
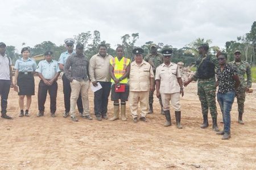
[[(162, 56), (162, 54), (158, 53), (158, 46), (156, 44), (151, 44), (150, 49), (151, 49), (151, 51), (150, 51), (151, 53), (145, 57), (145, 61), (150, 63), (150, 65), (152, 66), (154, 75), (155, 75), (156, 67), (158, 67), (159, 65), (161, 65), (163, 63), (163, 56)], [(153, 111), (153, 102), (154, 102), (154, 91), (150, 91), (150, 95), (149, 95), (150, 109), (149, 109), (148, 114), (154, 112)], [(161, 113), (164, 114), (161, 97), (159, 97), (159, 103), (161, 106)]]

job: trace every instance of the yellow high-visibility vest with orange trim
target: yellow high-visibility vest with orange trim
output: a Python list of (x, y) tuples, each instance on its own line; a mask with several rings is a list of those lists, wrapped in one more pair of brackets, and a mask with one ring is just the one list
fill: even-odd
[[(115, 78), (119, 79), (126, 72), (126, 67), (130, 64), (130, 59), (123, 57), (120, 61), (117, 57), (110, 59), (110, 65), (114, 67)], [(111, 79), (111, 82), (114, 83), (114, 80)], [(128, 83), (128, 78), (125, 78), (120, 81), (120, 83)]]

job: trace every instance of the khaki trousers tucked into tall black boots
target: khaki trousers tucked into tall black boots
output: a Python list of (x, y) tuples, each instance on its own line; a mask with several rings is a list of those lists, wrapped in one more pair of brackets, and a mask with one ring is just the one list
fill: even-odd
[(180, 93), (161, 94), (163, 111), (170, 110), (170, 100), (175, 111), (180, 111)]

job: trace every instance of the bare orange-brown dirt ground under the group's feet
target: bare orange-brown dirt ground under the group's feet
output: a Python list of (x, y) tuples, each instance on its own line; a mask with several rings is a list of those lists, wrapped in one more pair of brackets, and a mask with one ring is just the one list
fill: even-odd
[[(36, 94), (39, 78), (36, 80)], [(32, 97), (30, 117), (18, 117), (18, 96), (10, 90), (8, 114), (13, 120), (0, 118), (0, 169), (256, 169), (255, 88), (246, 96), (245, 125), (237, 123), (237, 103), (232, 109), (232, 138), (222, 141), (210, 126), (200, 129), (202, 122), (196, 83), (185, 88), (181, 99), (181, 124), (163, 127), (155, 97), (153, 114), (148, 122), (134, 123), (128, 105), (128, 121), (97, 121), (63, 118), (62, 80), (58, 80), (57, 117), (49, 115), (49, 98), (44, 117), (36, 117), (37, 95)], [(93, 115), (93, 92), (89, 91), (90, 113)], [(109, 100), (109, 117), (113, 103)], [(94, 116), (93, 116), (94, 118)], [(218, 107), (218, 122), (222, 119)], [(219, 124), (222, 129), (223, 125)]]

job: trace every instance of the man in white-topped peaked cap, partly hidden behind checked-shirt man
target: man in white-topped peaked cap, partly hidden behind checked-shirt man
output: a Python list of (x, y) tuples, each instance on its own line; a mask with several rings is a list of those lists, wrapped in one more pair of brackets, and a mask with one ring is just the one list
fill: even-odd
[[(64, 71), (64, 65), (68, 57), (76, 53), (75, 50), (73, 49), (75, 44), (74, 39), (65, 39), (64, 42), (66, 44), (67, 51), (64, 53), (61, 53), (60, 55), (60, 59), (58, 63), (61, 71)], [(62, 80), (63, 80), (63, 93), (64, 93), (64, 104), (65, 104), (65, 112), (63, 114), (63, 117), (68, 117), (69, 111), (70, 111), (71, 86), (70, 86), (69, 80), (67, 79), (67, 76), (64, 73), (62, 76)], [(77, 108), (79, 109), (80, 116), (82, 116), (84, 109), (82, 106), (81, 94), (79, 94), (79, 98), (77, 99), (76, 104), (77, 104)]]

